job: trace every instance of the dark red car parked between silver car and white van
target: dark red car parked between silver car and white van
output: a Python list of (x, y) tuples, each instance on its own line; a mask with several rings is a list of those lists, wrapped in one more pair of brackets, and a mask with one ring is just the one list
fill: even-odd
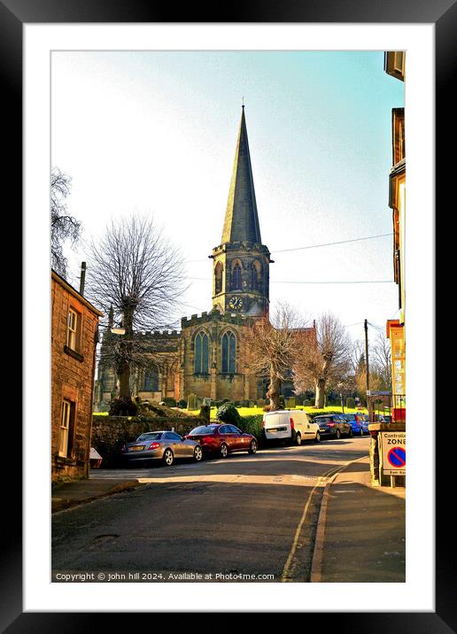
[(252, 434), (225, 422), (196, 427), (186, 438), (197, 441), (204, 453), (218, 453), (221, 458), (231, 452), (257, 452), (257, 440)]

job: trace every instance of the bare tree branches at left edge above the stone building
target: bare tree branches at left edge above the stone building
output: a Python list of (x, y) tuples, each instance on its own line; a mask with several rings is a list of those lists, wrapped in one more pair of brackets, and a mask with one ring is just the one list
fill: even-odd
[(51, 266), (66, 277), (68, 261), (64, 255), (64, 244), (71, 240), (74, 245), (81, 236), (81, 222), (66, 211), (66, 197), (70, 194), (72, 179), (58, 167), (50, 171), (50, 256)]

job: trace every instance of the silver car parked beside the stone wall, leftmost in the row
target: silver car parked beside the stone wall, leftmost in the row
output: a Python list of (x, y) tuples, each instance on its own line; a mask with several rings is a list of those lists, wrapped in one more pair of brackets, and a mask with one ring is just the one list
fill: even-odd
[(171, 467), (175, 458), (190, 458), (199, 462), (203, 458), (202, 448), (193, 440), (181, 437), (174, 431), (147, 431), (120, 450), (125, 463), (162, 460)]

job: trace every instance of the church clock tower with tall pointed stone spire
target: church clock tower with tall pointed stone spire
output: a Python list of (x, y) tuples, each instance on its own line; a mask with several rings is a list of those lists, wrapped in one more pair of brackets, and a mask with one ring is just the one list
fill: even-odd
[(270, 252), (262, 244), (244, 106), (221, 244), (213, 249), (213, 306), (259, 316), (269, 305)]

